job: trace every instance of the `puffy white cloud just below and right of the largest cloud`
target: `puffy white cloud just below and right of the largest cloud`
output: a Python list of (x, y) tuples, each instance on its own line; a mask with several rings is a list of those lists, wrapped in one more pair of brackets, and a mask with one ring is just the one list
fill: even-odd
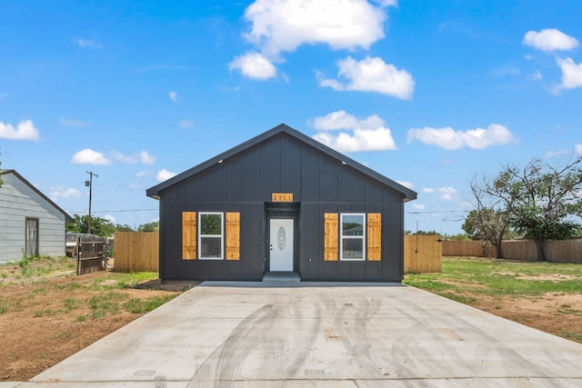
[(369, 56), (356, 61), (348, 56), (337, 61), (337, 75), (346, 79), (341, 82), (335, 79), (323, 79), (320, 75), (320, 86), (329, 86), (337, 91), (376, 92), (392, 95), (403, 100), (412, 98), (415, 81), (406, 70), (398, 70), (395, 65), (386, 64), (382, 58)]

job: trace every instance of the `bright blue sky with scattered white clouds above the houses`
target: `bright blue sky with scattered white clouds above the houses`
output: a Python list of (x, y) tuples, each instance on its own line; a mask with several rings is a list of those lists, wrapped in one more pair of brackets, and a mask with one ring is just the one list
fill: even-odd
[(582, 2), (0, 2), (0, 162), (69, 214), (138, 226), (146, 189), (280, 123), (462, 232), (469, 183), (582, 154)]

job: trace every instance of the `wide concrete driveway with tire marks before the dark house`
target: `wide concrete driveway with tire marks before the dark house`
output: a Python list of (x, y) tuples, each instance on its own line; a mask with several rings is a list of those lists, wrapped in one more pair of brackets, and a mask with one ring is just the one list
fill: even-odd
[(582, 345), (432, 293), (278, 285), (201, 284), (0, 387), (582, 386)]

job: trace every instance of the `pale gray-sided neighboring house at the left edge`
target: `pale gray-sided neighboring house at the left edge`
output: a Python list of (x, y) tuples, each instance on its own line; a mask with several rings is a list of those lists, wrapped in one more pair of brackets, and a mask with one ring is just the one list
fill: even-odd
[(15, 170), (0, 174), (0, 261), (64, 256), (65, 223), (73, 218)]

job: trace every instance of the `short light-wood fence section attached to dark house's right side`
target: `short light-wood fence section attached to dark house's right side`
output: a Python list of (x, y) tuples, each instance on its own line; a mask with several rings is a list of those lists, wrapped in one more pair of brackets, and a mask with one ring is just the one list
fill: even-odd
[(404, 236), (405, 274), (438, 273), (442, 269), (442, 243), (439, 235)]

